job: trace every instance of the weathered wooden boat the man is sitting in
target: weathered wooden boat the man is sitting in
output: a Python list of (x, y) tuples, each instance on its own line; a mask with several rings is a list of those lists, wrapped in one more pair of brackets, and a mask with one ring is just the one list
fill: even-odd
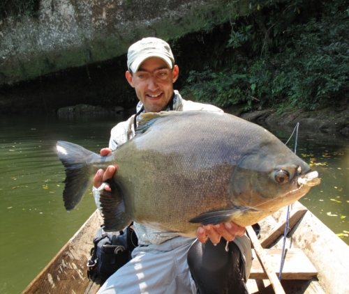
[[(280, 210), (260, 222), (260, 245), (267, 248), (264, 249), (266, 262), (276, 273), (281, 262), (285, 213), (285, 209)], [(23, 294), (96, 293), (101, 280), (89, 279), (87, 261), (92, 239), (101, 223), (96, 210)], [(299, 202), (293, 205), (289, 226), (292, 230), (285, 242), (287, 251), (281, 279), (285, 293), (349, 293), (349, 246)], [(257, 256), (247, 286), (251, 294), (274, 293)]]

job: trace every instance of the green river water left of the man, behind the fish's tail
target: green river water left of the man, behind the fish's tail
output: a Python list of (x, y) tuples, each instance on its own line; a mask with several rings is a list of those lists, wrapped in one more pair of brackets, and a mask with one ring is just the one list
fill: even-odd
[(66, 212), (64, 167), (57, 140), (96, 153), (107, 146), (118, 116), (2, 116), (0, 118), (0, 293), (21, 293), (73, 236), (96, 206), (84, 196)]

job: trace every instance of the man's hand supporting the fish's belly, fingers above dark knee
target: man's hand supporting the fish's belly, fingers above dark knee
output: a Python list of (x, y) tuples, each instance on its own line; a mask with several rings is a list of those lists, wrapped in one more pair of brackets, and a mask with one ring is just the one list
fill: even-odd
[(227, 241), (232, 241), (236, 235), (244, 235), (245, 231), (246, 229), (244, 227), (238, 226), (233, 222), (216, 224), (215, 226), (208, 224), (207, 226), (200, 226), (196, 236), (202, 243), (205, 243), (208, 239), (210, 239), (213, 244), (218, 244), (221, 237)]

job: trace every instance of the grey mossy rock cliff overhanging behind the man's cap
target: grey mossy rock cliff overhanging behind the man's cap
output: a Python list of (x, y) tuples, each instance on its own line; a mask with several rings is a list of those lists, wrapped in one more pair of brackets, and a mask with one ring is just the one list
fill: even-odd
[(226, 19), (228, 2), (41, 0), (38, 17), (0, 22), (0, 86), (114, 59), (144, 36), (198, 31)]

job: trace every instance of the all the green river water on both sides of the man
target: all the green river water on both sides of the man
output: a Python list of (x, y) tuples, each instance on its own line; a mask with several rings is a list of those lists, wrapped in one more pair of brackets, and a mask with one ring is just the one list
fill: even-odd
[[(75, 210), (64, 209), (65, 175), (56, 141), (71, 141), (98, 153), (107, 146), (110, 129), (126, 118), (0, 117), (0, 293), (21, 293), (96, 210), (91, 189)], [(286, 141), (292, 130), (272, 132)], [(301, 202), (349, 244), (348, 138), (300, 127), (297, 155), (322, 179)]]

